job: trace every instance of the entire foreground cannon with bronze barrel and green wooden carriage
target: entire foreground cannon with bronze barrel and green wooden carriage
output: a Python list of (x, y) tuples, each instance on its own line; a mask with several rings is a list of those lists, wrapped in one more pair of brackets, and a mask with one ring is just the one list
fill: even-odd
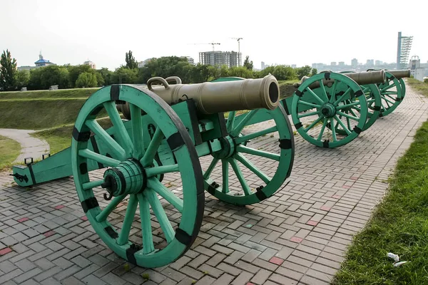
[[(13, 168), (23, 187), (72, 175), (95, 232), (118, 256), (143, 267), (169, 264), (190, 248), (203, 221), (204, 190), (232, 204), (258, 203), (283, 186), (294, 160), (292, 128), (273, 76), (192, 85), (167, 79), (97, 90), (78, 113), (71, 147)], [(259, 128), (255, 115), (275, 124)], [(251, 142), (273, 132), (272, 152)], [(113, 211), (124, 205), (120, 219)]]

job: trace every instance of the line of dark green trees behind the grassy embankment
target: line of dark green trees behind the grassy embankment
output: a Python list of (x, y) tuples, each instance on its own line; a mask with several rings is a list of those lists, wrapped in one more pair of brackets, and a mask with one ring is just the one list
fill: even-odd
[(34, 68), (30, 71), (17, 71), (16, 59), (11, 57), (9, 50), (4, 51), (0, 58), (0, 90), (46, 90), (50, 86), (58, 85), (60, 89), (91, 88), (110, 84), (137, 83), (144, 84), (149, 78), (161, 76), (178, 76), (183, 83), (202, 83), (226, 76), (242, 78), (263, 78), (272, 74), (278, 81), (300, 79), (317, 73), (315, 68), (304, 66), (292, 68), (279, 65), (269, 66), (262, 71), (253, 70), (253, 61), (245, 58), (243, 66), (206, 66), (200, 63), (190, 64), (185, 57), (165, 56), (151, 58), (143, 67), (138, 63), (132, 51), (126, 53), (126, 64), (109, 71), (108, 68), (95, 70), (91, 66), (46, 66)]

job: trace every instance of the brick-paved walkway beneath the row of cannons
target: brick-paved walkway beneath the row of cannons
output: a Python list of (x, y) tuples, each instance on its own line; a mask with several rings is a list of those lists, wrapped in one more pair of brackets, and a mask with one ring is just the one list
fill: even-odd
[[(84, 217), (72, 178), (31, 190), (0, 175), (0, 284), (328, 284), (352, 235), (387, 190), (400, 156), (428, 119), (428, 100), (408, 90), (402, 105), (344, 147), (323, 149), (296, 136), (287, 187), (260, 204), (235, 207), (206, 194), (193, 247), (169, 266), (124, 266)], [(253, 143), (277, 151), (277, 139)], [(203, 168), (209, 160), (201, 159)], [(271, 162), (260, 161), (268, 171)], [(221, 170), (215, 170), (221, 171)], [(100, 176), (102, 170), (92, 175)], [(246, 175), (251, 179), (250, 174)], [(165, 181), (165, 180), (164, 180)], [(230, 183), (238, 181), (231, 177)], [(171, 188), (172, 189), (172, 188)], [(180, 190), (180, 189), (178, 189)], [(101, 195), (101, 194), (99, 194)], [(103, 205), (101, 199), (98, 199)], [(121, 226), (126, 203), (114, 212)], [(138, 211), (137, 211), (138, 212)], [(171, 220), (173, 211), (167, 212)], [(134, 224), (138, 225), (138, 217)], [(159, 224), (153, 220), (153, 230)], [(131, 240), (140, 240), (140, 230)], [(139, 234), (139, 235), (138, 235)], [(250, 283), (248, 283), (250, 282)]]

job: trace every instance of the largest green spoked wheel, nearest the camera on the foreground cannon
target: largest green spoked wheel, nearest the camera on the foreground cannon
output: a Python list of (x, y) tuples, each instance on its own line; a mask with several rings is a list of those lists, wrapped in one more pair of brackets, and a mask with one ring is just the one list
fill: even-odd
[[(131, 118), (134, 120), (126, 122), (126, 125), (116, 110), (116, 100), (125, 101), (131, 106)], [(102, 108), (106, 109), (113, 123), (111, 130), (114, 139), (94, 120), (96, 113)], [(157, 126), (153, 138), (146, 132), (146, 120), (138, 120), (141, 118), (141, 110)], [(110, 157), (87, 149), (90, 131), (111, 150)], [(166, 142), (173, 150), (177, 162), (175, 165), (156, 166), (158, 164), (153, 160), (158, 147)], [(84, 171), (84, 165), (93, 160), (111, 167), (104, 173), (104, 179), (91, 180), (88, 172)], [(183, 123), (170, 106), (154, 93), (138, 86), (122, 85), (107, 86), (91, 95), (76, 119), (71, 142), (71, 165), (86, 217), (103, 242), (123, 259), (143, 267), (163, 266), (184, 254), (198, 235), (204, 206), (202, 170), (198, 155)], [(114, 175), (116, 172), (121, 172), (118, 178)], [(181, 178), (185, 189), (182, 197), (159, 182), (161, 173)], [(123, 187), (123, 182), (126, 187)], [(108, 191), (113, 195), (113, 199), (103, 209), (96, 199), (100, 192), (94, 191), (100, 185), (110, 187)], [(173, 206), (168, 208), (172, 208), (176, 216), (180, 216), (174, 222), (169, 221), (158, 195)], [(128, 207), (123, 224), (114, 226), (111, 224), (113, 218), (109, 216), (126, 198)], [(129, 240), (138, 204), (142, 248), (140, 244), (133, 244)], [(163, 239), (152, 231), (153, 219), (160, 224)], [(179, 226), (174, 230), (173, 224), (178, 223)], [(119, 227), (120, 230), (116, 231)]]

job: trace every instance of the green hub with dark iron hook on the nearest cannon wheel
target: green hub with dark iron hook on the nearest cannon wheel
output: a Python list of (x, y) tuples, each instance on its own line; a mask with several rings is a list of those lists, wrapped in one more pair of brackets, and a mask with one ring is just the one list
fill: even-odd
[(107, 190), (110, 197), (117, 197), (142, 192), (146, 185), (146, 171), (140, 162), (126, 160), (104, 172), (104, 182), (101, 187)]

